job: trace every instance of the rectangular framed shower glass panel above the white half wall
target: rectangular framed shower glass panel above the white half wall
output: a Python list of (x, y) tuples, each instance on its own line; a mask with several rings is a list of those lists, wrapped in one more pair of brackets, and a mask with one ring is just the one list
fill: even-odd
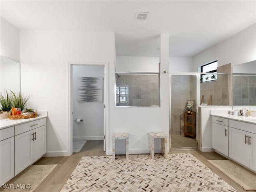
[(116, 106), (160, 106), (158, 73), (116, 72)]

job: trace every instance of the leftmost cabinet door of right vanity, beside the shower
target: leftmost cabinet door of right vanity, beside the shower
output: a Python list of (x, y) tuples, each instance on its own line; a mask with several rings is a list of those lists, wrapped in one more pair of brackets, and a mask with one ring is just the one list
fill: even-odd
[(228, 127), (212, 123), (212, 148), (228, 156)]

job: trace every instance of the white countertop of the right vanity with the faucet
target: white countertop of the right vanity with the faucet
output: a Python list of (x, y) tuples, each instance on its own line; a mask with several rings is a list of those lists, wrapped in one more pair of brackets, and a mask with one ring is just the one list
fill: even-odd
[(220, 118), (227, 118), (230, 120), (237, 120), (237, 121), (243, 121), (246, 123), (256, 124), (256, 117), (230, 115), (228, 114), (228, 111), (211, 110), (210, 115), (220, 117)]

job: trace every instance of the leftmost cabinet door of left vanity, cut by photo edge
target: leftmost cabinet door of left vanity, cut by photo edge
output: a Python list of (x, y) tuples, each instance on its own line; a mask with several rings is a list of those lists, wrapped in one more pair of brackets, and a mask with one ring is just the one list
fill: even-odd
[(1, 182), (5, 184), (14, 177), (14, 137), (0, 141)]

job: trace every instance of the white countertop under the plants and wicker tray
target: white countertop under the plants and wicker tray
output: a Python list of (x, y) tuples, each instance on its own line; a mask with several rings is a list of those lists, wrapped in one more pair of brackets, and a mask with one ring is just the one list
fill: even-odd
[(47, 118), (47, 117), (48, 117), (48, 112), (44, 111), (44, 112), (37, 112), (36, 118), (30, 118), (30, 119), (24, 119), (24, 120), (3, 119), (3, 120), (0, 120), (0, 129), (12, 127), (12, 126), (19, 125), (22, 123), (27, 123), (30, 121), (40, 120), (40, 119)]

